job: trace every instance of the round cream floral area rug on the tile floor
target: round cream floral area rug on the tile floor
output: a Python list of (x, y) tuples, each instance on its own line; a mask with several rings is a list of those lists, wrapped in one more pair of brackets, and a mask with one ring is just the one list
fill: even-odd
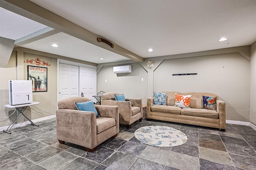
[(188, 141), (182, 131), (166, 126), (145, 126), (134, 132), (140, 142), (155, 147), (176, 147)]

